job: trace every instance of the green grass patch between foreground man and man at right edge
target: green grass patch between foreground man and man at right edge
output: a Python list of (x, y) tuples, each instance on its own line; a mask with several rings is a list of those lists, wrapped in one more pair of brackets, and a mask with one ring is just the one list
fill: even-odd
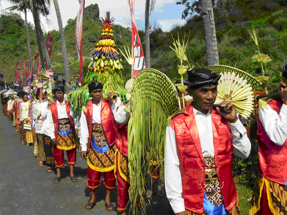
[(239, 198), (240, 214), (248, 215), (253, 187), (250, 187), (248, 183), (239, 182), (236, 178), (234, 178), (234, 181)]

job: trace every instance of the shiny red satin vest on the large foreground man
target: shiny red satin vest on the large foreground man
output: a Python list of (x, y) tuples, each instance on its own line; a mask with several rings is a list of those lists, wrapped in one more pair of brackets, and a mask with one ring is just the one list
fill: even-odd
[[(215, 167), (220, 187), (222, 187), (225, 208), (230, 210), (236, 203), (237, 197), (231, 172), (233, 157), (231, 130), (228, 120), (225, 120), (213, 108), (211, 118)], [(201, 214), (203, 213), (205, 185), (205, 172), (202, 168), (205, 168), (205, 165), (192, 104), (186, 107), (183, 114), (172, 118), (171, 126), (175, 131), (185, 208)]]

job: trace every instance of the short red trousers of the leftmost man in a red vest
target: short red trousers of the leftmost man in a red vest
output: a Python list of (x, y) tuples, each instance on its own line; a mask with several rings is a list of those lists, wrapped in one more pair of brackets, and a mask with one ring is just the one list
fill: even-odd
[[(57, 148), (56, 145), (53, 146), (53, 154), (54, 154), (56, 168), (61, 168), (64, 166), (64, 151), (65, 150)], [(76, 147), (70, 150), (66, 150), (66, 153), (67, 153), (69, 165), (75, 165), (76, 164)]]

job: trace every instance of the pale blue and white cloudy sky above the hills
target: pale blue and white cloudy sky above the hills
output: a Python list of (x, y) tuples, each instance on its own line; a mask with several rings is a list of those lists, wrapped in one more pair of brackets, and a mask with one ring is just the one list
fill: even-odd
[[(67, 24), (67, 20), (75, 18), (79, 11), (78, 0), (58, 0), (63, 26)], [(131, 27), (131, 14), (127, 0), (110, 0), (108, 1), (95, 1), (86, 0), (85, 7), (90, 4), (97, 3), (100, 8), (100, 16), (104, 17), (105, 11), (111, 11), (111, 15), (116, 18), (115, 24), (120, 24), (123, 27)], [(1, 1), (1, 10), (12, 5), (7, 1)], [(44, 25), (46, 32), (56, 29), (59, 30), (55, 7), (53, 2), (51, 3), (51, 12), (48, 15), (48, 19), (52, 21), (50, 26)], [(158, 24), (163, 31), (169, 31), (175, 24), (184, 24), (185, 20), (181, 19), (181, 13), (184, 10), (183, 5), (177, 5), (176, 0), (157, 0), (154, 7), (154, 12), (151, 14), (150, 19)], [(145, 0), (135, 0), (135, 19), (138, 29), (144, 29), (144, 9)], [(3, 13), (3, 11), (1, 11)], [(21, 14), (24, 19), (24, 14)], [(28, 21), (33, 23), (32, 14), (28, 14)], [(45, 19), (42, 19), (42, 23), (45, 23)]]

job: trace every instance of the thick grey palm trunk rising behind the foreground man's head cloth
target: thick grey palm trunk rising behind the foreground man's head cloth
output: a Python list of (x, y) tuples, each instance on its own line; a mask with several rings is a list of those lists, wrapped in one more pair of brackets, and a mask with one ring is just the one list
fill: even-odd
[(211, 0), (201, 1), (201, 15), (204, 27), (207, 66), (218, 65), (217, 40)]

